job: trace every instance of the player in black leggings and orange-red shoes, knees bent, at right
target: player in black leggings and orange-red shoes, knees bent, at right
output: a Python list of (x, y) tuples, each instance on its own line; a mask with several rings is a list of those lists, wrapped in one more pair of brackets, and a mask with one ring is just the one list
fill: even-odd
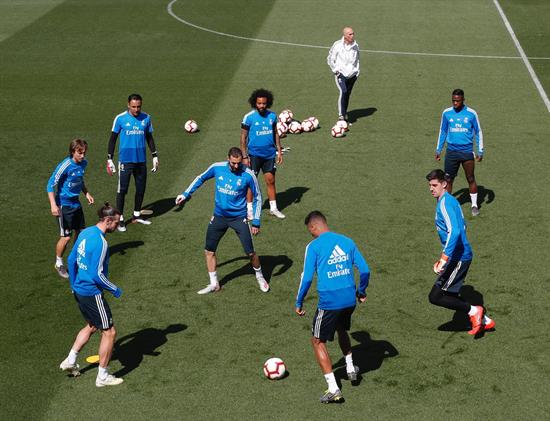
[(443, 170), (433, 170), (426, 176), (430, 192), (437, 199), (435, 227), (443, 246), (441, 257), (434, 264), (437, 274), (430, 291), (430, 303), (450, 310), (468, 313), (472, 324), (470, 335), (495, 327), (495, 321), (484, 314), (482, 306), (472, 306), (460, 295), (460, 288), (472, 263), (472, 248), (466, 237), (466, 223), (458, 200), (447, 191), (449, 177)]

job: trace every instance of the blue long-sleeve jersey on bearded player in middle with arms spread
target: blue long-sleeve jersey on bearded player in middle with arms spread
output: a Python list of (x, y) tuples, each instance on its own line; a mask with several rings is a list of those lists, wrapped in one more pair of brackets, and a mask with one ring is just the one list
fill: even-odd
[(233, 172), (229, 167), (229, 162), (216, 162), (193, 180), (182, 193), (183, 197), (189, 198), (206, 180), (211, 178), (216, 180), (214, 215), (227, 218), (246, 218), (246, 193), (250, 188), (253, 196), (252, 225), (259, 227), (262, 193), (254, 172), (248, 167), (241, 167)]

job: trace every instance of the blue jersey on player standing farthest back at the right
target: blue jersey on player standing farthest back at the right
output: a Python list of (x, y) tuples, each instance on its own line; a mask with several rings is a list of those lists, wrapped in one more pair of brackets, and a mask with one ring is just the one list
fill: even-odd
[(477, 155), (483, 156), (483, 132), (474, 109), (464, 105), (460, 111), (453, 107), (443, 110), (436, 153), (441, 154), (445, 141), (447, 151), (472, 152), (477, 137)]

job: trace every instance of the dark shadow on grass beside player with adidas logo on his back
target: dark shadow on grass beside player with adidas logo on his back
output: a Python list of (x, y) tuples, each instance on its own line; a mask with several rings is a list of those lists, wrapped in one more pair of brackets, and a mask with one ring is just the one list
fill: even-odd
[[(351, 347), (353, 364), (359, 367), (357, 381), (352, 384), (354, 386), (361, 383), (363, 374), (369, 371), (378, 370), (386, 358), (399, 355), (397, 348), (390, 342), (385, 340), (374, 340), (368, 332), (353, 332), (351, 337), (359, 342), (358, 345)], [(334, 374), (337, 381), (341, 384), (342, 379), (347, 380), (348, 378), (345, 358), (340, 358), (336, 364), (334, 364), (334, 367), (339, 367), (335, 370)]]

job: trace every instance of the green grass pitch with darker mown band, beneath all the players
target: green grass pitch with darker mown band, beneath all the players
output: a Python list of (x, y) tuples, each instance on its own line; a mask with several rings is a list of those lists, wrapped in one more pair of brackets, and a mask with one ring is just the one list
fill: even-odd
[[(167, 1), (22, 5), (0, 2), (10, 11), (2, 14), (9, 25), (2, 25), (0, 43), (0, 106), (7, 115), (0, 121), (2, 418), (546, 416), (550, 225), (547, 164), (539, 157), (550, 152), (550, 116), (520, 60), (363, 54), (351, 100), (359, 118), (346, 138), (334, 140), (328, 130), (336, 89), (327, 50), (200, 32), (170, 17)], [(338, 19), (333, 3), (312, 1), (179, 1), (174, 12), (221, 32), (287, 42), (328, 46), (350, 24), (362, 48), (517, 55), (491, 1), (463, 2), (459, 20), (454, 2), (343, 5)], [(548, 7), (502, 6), (527, 55), (549, 57)], [(548, 62), (533, 66), (550, 92)], [(275, 110), (316, 115), (322, 129), (284, 140), (292, 150), (277, 184), (287, 219), (265, 215), (255, 242), (272, 291), (259, 292), (229, 233), (218, 253), (224, 290), (199, 297), (196, 290), (207, 283), (202, 247), (212, 183), (179, 212), (171, 203), (238, 144), (246, 100), (260, 86), (274, 91)], [(423, 177), (437, 166), (440, 113), (458, 86), (480, 115), (487, 149), (477, 166), (481, 215), (471, 218), (464, 205), (475, 252), (470, 292), (482, 294), (498, 329), (479, 340), (438, 330), (452, 313), (427, 302), (439, 248)], [(100, 390), (95, 369), (78, 379), (57, 369), (82, 321), (52, 267), (56, 230), (44, 186), (69, 140), (82, 136), (90, 143), (87, 185), (98, 204), (114, 202), (116, 180), (104, 173), (106, 143), (133, 91), (144, 96), (156, 128), (161, 168), (146, 193), (156, 214), (150, 227), (108, 237), (110, 277), (125, 292), (120, 300), (108, 297), (119, 332), (111, 368), (125, 383)], [(189, 118), (200, 133), (183, 132)], [(465, 187), (461, 174), (455, 190)], [(132, 202), (131, 191), (128, 210)], [(97, 206), (85, 208), (89, 224)], [(368, 303), (358, 307), (352, 328), (363, 380), (358, 387), (344, 381), (346, 404), (328, 408), (318, 403), (325, 383), (309, 344), (313, 291), (306, 318), (293, 314), (310, 240), (303, 217), (312, 209), (356, 240), (373, 272)], [(82, 357), (95, 354), (97, 343)], [(335, 344), (330, 351), (342, 367)], [(286, 379), (263, 378), (270, 356), (284, 359)]]

